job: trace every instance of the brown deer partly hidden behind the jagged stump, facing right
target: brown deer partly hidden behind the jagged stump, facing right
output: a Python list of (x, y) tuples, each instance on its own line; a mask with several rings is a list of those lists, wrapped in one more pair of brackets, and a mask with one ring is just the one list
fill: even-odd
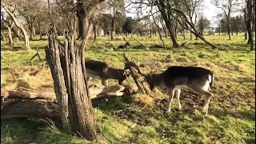
[(124, 69), (116, 69), (107, 62), (86, 60), (85, 65), (88, 82), (90, 82), (92, 77), (96, 76), (101, 78), (102, 86), (108, 86), (108, 79), (117, 79), (118, 84), (122, 85), (122, 82), (130, 76), (130, 74), (126, 73), (126, 70), (129, 69), (126, 64)]

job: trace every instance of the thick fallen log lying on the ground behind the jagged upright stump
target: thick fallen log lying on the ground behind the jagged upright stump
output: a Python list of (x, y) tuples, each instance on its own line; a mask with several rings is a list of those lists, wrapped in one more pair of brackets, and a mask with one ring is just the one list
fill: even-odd
[[(136, 86), (91, 86), (91, 98), (122, 96), (138, 90)], [(52, 89), (1, 89), (1, 119), (60, 118), (58, 102)]]

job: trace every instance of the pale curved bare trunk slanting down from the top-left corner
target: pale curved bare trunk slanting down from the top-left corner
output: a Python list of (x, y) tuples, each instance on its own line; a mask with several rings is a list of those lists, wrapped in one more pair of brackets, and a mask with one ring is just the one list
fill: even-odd
[(18, 20), (15, 18), (14, 14), (10, 12), (10, 10), (6, 7), (6, 4), (3, 4), (1, 2), (1, 6), (6, 10), (7, 14), (10, 15), (10, 17), (14, 20), (15, 25), (22, 30), (24, 39), (25, 39), (25, 47), (26, 50), (31, 50), (30, 49), (30, 39), (28, 37), (28, 35), (26, 34), (26, 30), (24, 29), (24, 27), (22, 26), (21, 23), (18, 22)]

